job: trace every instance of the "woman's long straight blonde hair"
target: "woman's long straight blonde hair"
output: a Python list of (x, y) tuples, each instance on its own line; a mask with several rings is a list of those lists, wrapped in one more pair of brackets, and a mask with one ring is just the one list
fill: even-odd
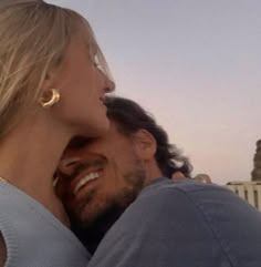
[(0, 137), (35, 104), (79, 22), (95, 42), (91, 27), (75, 11), (42, 0), (0, 0)]

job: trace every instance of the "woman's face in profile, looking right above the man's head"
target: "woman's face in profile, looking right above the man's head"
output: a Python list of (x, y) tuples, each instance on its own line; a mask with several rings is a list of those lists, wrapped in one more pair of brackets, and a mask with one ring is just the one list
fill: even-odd
[(61, 70), (55, 75), (55, 86), (61, 94), (53, 106), (55, 115), (73, 129), (73, 134), (98, 136), (108, 129), (105, 93), (114, 90), (114, 83), (101, 70), (96, 51), (85, 28), (72, 37)]

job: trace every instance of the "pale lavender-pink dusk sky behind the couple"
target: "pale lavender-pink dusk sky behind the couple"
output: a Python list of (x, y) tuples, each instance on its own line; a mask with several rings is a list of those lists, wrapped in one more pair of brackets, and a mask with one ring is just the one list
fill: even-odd
[(49, 0), (92, 24), (116, 94), (154, 114), (194, 175), (250, 181), (261, 138), (260, 0)]

